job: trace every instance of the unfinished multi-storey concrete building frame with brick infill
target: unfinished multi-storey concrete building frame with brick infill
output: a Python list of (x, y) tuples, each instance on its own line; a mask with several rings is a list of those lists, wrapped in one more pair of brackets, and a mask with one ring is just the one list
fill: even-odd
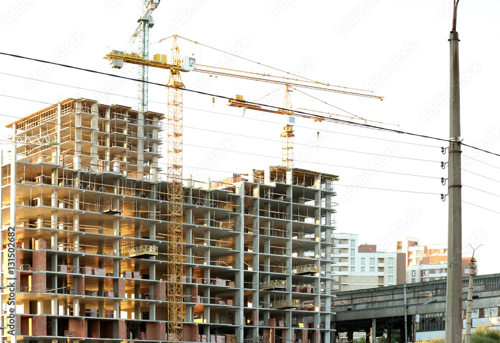
[(15, 256), (15, 332), (6, 287), (2, 341), (334, 341), (337, 176), (271, 166), (184, 180), (175, 252), (162, 119), (69, 98), (7, 125), (2, 285)]

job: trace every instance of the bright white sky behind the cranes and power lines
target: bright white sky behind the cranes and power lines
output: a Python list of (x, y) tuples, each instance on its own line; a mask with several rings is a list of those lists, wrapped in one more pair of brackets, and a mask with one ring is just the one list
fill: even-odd
[[(150, 42), (172, 34), (233, 52), (262, 64), (330, 84), (372, 88), (383, 101), (326, 92), (311, 95), (367, 119), (399, 124), (401, 130), (448, 138), (449, 45), (451, 0), (161, 0), (153, 12)], [(0, 9), (1, 51), (73, 66), (136, 77), (137, 67), (111, 69), (102, 59), (110, 48), (124, 49), (136, 27), (139, 0), (3, 0)], [(465, 143), (500, 153), (498, 93), (500, 1), (460, 2), (461, 136)], [(261, 65), (179, 40), (181, 54), (194, 53), (207, 65), (283, 75)], [(134, 47), (135, 48), (135, 47)], [(169, 54), (171, 39), (149, 52)], [(66, 97), (87, 97), (136, 108), (136, 82), (0, 55), (0, 115), (5, 123)], [(41, 78), (85, 89), (33, 81)], [(166, 83), (167, 71), (149, 69), (149, 80)], [(246, 100), (282, 105), (277, 85), (182, 74), (186, 88)], [(208, 80), (208, 81), (207, 81)], [(275, 93), (262, 97), (274, 90)], [(116, 95), (109, 95), (109, 92)], [(7, 95), (7, 96), (3, 96)], [(166, 112), (166, 90), (149, 86), (149, 109)], [(293, 108), (345, 114), (297, 91)], [(223, 99), (184, 91), (184, 176), (200, 180), (230, 176), (281, 163), (283, 118), (275, 114), (228, 107)], [(12, 116), (12, 117), (9, 117)], [(394, 127), (394, 126), (388, 126)], [(319, 131), (317, 140), (316, 131)], [(227, 133), (220, 133), (227, 132)], [(233, 134), (229, 134), (233, 133)], [(347, 133), (347, 134), (343, 134)], [(8, 134), (5, 128), (1, 137)], [(355, 135), (376, 137), (364, 138)], [(445, 242), (447, 200), (439, 195), (395, 192), (341, 185), (447, 193), (445, 142), (405, 134), (297, 118), (295, 166), (340, 176), (338, 232), (359, 234), (359, 243), (395, 250), (404, 235), (423, 243)], [(390, 139), (394, 141), (387, 141)], [(422, 145), (407, 144), (413, 142)], [(446, 145), (445, 145), (446, 146)], [(341, 151), (353, 150), (373, 154)], [(500, 157), (463, 147), (463, 201), (500, 212)], [(392, 156), (393, 155), (393, 156)], [(411, 160), (411, 157), (431, 160)], [(347, 168), (365, 168), (371, 172)], [(214, 170), (209, 170), (214, 169)], [(389, 172), (425, 175), (408, 176)], [(475, 174), (473, 174), (473, 173)], [(486, 176), (482, 177), (479, 175)], [(357, 183), (356, 183), (357, 182)], [(478, 188), (490, 193), (479, 191)], [(491, 194), (492, 193), (492, 194)], [(446, 198), (447, 199), (447, 198)], [(500, 240), (500, 213), (464, 203), (463, 250), (478, 246), (480, 274), (498, 272), (494, 253)]]

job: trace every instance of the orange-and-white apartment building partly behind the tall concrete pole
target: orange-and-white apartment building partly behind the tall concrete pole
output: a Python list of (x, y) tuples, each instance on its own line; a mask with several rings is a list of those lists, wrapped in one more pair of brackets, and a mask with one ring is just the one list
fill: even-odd
[[(397, 242), (397, 251), (406, 258), (406, 282), (445, 279), (447, 274), (447, 244), (421, 244), (418, 238), (404, 237)], [(462, 253), (462, 276), (470, 272), (472, 254)]]

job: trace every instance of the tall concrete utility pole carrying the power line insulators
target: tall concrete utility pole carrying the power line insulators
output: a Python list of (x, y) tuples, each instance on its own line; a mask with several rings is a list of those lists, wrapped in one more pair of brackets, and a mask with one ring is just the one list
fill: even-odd
[(444, 341), (462, 341), (462, 194), (460, 165), (460, 77), (458, 32), (453, 1), (453, 23), (449, 33), (449, 150), (448, 150), (448, 270)]

